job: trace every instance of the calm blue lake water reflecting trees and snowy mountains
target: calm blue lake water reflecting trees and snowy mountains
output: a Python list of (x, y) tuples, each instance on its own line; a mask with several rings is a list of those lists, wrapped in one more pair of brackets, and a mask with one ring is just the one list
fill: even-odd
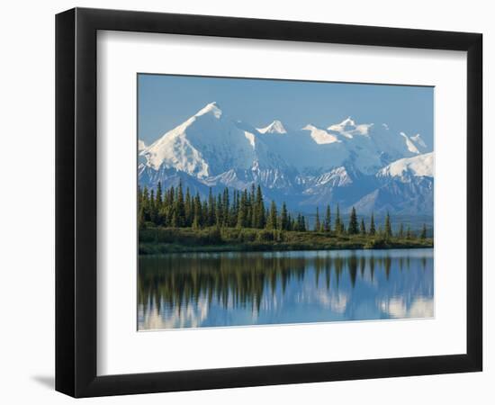
[(429, 318), (433, 249), (139, 257), (139, 329)]

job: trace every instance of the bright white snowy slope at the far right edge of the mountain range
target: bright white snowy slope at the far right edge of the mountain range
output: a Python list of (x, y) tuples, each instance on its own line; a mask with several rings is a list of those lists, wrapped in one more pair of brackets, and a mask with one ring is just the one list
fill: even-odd
[(405, 157), (390, 165), (383, 167), (378, 173), (378, 177), (401, 177), (408, 179), (415, 177), (433, 177), (435, 169), (435, 156), (433, 152), (418, 155), (416, 157)]

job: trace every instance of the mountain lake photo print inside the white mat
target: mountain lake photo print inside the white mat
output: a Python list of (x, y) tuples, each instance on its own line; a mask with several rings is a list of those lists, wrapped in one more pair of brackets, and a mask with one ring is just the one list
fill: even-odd
[(139, 330), (434, 317), (434, 87), (137, 94)]

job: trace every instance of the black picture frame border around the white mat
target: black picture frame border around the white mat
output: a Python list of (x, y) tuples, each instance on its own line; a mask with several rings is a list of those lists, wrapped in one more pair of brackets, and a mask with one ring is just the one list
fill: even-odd
[[(96, 374), (96, 32), (467, 51), (465, 354)], [(463, 266), (463, 264), (459, 264)], [(75, 8), (56, 16), (56, 390), (74, 397), (482, 371), (482, 34)]]

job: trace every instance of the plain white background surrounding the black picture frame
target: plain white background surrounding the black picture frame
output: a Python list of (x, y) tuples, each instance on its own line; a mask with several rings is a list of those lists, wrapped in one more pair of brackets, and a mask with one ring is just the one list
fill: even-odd
[[(489, 97), (495, 94), (495, 26), (491, 2), (416, 0), (318, 0), (271, 3), (182, 0), (4, 2), (0, 14), (0, 401), (67, 403), (53, 391), (54, 375), (54, 14), (75, 5), (188, 14), (354, 23), (484, 34), (485, 207), (495, 195), (489, 162), (495, 126)], [(495, 214), (485, 208), (485, 250), (495, 236)], [(85, 403), (329, 403), (433, 404), (495, 402), (495, 277), (493, 250), (485, 254), (485, 371), (361, 382), (316, 383), (263, 388), (179, 392), (91, 399)], [(491, 319), (490, 319), (491, 318)]]

